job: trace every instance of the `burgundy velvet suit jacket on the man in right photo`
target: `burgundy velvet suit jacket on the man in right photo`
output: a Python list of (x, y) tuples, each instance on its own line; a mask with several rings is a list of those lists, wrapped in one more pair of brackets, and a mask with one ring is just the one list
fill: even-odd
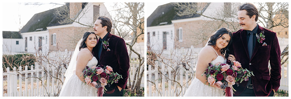
[[(281, 79), (281, 51), (276, 32), (258, 27), (257, 34), (265, 32), (266, 46), (259, 43), (256, 39), (253, 55), (249, 59), (247, 33), (246, 30), (238, 30), (233, 33), (233, 43), (230, 45), (230, 54), (233, 54), (236, 60), (241, 63), (244, 69), (253, 71), (255, 76), (251, 76), (253, 89), (256, 96), (268, 96), (272, 89), (275, 91), (280, 87)], [(254, 35), (255, 36), (255, 35)], [(271, 71), (269, 73), (268, 63), (270, 61)], [(240, 95), (246, 88), (248, 81), (242, 81), (239, 86), (233, 85), (235, 95)]]

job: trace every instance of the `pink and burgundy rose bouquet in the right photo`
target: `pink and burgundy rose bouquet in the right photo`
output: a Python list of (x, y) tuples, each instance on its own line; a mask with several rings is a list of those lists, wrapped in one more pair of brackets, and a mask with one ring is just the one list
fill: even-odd
[(214, 85), (216, 88), (226, 89), (223, 94), (226, 96), (233, 96), (233, 91), (236, 91), (233, 89), (233, 85), (238, 86), (238, 83), (249, 80), (250, 76), (255, 76), (253, 71), (243, 69), (238, 61), (229, 60), (226, 61), (226, 64), (209, 63), (204, 74), (207, 76), (209, 86)]

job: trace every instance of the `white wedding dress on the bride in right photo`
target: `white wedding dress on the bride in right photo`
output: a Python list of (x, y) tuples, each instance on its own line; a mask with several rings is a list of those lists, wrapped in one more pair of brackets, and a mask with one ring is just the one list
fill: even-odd
[[(205, 47), (211, 47), (211, 46), (205, 46)], [(213, 47), (211, 48), (213, 49)], [(224, 59), (222, 56), (219, 56), (217, 53), (216, 55), (217, 55), (217, 58), (211, 61), (212, 64), (215, 64), (218, 62), (226, 63), (226, 59)], [(201, 74), (196, 74), (196, 75), (199, 76)], [(201, 82), (199, 79), (195, 77), (191, 85), (185, 92), (184, 96), (223, 96), (223, 91), (218, 88), (205, 85), (203, 82)]]

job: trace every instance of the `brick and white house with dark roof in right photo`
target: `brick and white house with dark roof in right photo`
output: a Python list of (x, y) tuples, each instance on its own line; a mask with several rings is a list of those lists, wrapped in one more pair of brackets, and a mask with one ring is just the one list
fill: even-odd
[[(204, 7), (198, 11), (202, 14), (213, 13), (224, 4), (201, 3)], [(215, 32), (203, 24), (206, 20), (209, 19), (199, 14), (178, 16), (171, 3), (160, 5), (147, 18), (147, 46), (154, 50), (204, 47), (209, 36)]]

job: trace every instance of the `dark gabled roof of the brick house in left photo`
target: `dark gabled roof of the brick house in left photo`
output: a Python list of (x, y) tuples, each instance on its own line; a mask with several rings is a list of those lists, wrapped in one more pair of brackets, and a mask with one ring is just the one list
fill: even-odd
[[(82, 8), (84, 8), (83, 6), (85, 6), (87, 3), (82, 3), (82, 4), (83, 4)], [(69, 3), (66, 3), (64, 6), (61, 6), (58, 8), (65, 8), (65, 6), (69, 6)], [(26, 25), (23, 26), (23, 28), (19, 32), (26, 33), (26, 32), (45, 31), (47, 30), (47, 27), (72, 24), (73, 22), (66, 23), (66, 24), (58, 23), (58, 21), (63, 20), (63, 19), (59, 19), (58, 18), (59, 16), (54, 15), (54, 11), (58, 8), (54, 8), (51, 10), (34, 14), (33, 17), (26, 23)], [(68, 15), (68, 13), (63, 13), (63, 14)]]

